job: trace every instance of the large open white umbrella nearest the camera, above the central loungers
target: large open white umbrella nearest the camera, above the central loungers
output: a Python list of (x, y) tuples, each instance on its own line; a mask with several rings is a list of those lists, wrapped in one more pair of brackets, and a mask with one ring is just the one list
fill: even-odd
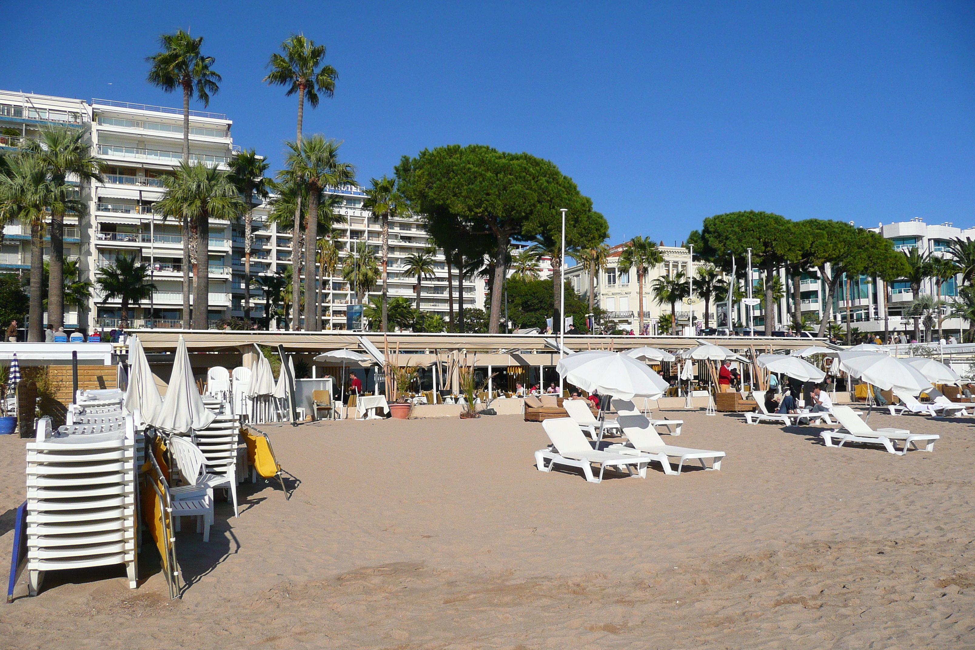
[(621, 400), (650, 398), (664, 394), (670, 384), (645, 363), (616, 352), (594, 350), (568, 355), (556, 370), (584, 391), (611, 395)]

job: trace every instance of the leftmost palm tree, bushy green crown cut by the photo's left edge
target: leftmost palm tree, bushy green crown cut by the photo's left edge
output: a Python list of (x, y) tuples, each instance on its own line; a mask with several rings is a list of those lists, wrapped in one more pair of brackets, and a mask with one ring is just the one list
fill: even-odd
[(7, 157), (7, 171), (0, 175), (0, 224), (12, 220), (30, 226), (30, 325), (27, 340), (44, 340), (44, 227), (47, 210), (81, 214), (84, 205), (71, 185), (56, 185), (47, 168), (26, 153)]

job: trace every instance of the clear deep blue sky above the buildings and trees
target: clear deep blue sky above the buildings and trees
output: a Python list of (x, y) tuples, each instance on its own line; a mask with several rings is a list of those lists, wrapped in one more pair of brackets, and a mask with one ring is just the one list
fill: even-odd
[(261, 78), (303, 31), (339, 72), (305, 132), (343, 140), (361, 182), (424, 147), (527, 151), (593, 198), (612, 243), (672, 244), (730, 210), (975, 225), (971, 2), (20, 2), (4, 18), (0, 88), (172, 106), (143, 59), (189, 27), (223, 75), (211, 110), (276, 167), (296, 100)]

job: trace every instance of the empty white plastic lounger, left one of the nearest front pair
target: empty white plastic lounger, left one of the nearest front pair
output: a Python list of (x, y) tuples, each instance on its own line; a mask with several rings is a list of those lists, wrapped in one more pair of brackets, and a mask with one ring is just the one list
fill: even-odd
[[(535, 452), (535, 465), (540, 472), (551, 472), (556, 465), (567, 465), (578, 467), (586, 476), (586, 480), (591, 483), (598, 483), (603, 480), (603, 473), (606, 466), (616, 468), (626, 468), (631, 475), (633, 471), (630, 466), (636, 465), (640, 478), (646, 478), (646, 464), (650, 457), (644, 454), (618, 454), (608, 451), (598, 451), (586, 440), (582, 430), (579, 429), (572, 418), (560, 417), (542, 422), (545, 433), (552, 446), (547, 449), (539, 449)], [(548, 465), (545, 461), (549, 461)], [(593, 476), (592, 465), (600, 467), (600, 476)]]

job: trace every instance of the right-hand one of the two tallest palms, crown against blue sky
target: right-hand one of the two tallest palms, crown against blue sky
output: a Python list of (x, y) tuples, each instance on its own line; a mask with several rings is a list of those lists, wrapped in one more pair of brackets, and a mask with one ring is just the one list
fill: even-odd
[[(308, 105), (316, 108), (318, 106), (319, 93), (327, 97), (334, 96), (335, 80), (338, 79), (338, 72), (331, 65), (323, 64), (322, 59), (325, 58), (325, 46), (315, 45), (315, 41), (305, 38), (304, 34), (292, 34), (291, 38), (286, 39), (281, 44), (281, 52), (282, 54), (280, 55), (277, 53), (271, 55), (271, 59), (267, 62), (267, 67), (271, 71), (264, 77), (264, 81), (269, 86), (286, 87), (288, 92), (285, 93), (285, 96), (292, 96), (297, 93), (298, 122), (294, 142), (300, 149), (302, 145), (301, 123), (304, 120), (305, 99), (308, 100)], [(294, 268), (295, 277), (297, 277), (297, 273), (300, 271), (297, 258), (299, 249), (296, 248), (298, 244), (298, 233), (300, 231), (301, 197), (298, 196), (294, 209), (294, 237), (292, 241), (292, 247), (294, 247), (292, 248), (292, 268)], [(309, 248), (312, 246), (314, 246), (312, 243), (308, 244)], [(300, 302), (299, 291), (298, 283), (293, 283), (292, 303), (294, 304), (294, 329), (300, 328), (301, 317), (298, 313), (298, 304)]]

